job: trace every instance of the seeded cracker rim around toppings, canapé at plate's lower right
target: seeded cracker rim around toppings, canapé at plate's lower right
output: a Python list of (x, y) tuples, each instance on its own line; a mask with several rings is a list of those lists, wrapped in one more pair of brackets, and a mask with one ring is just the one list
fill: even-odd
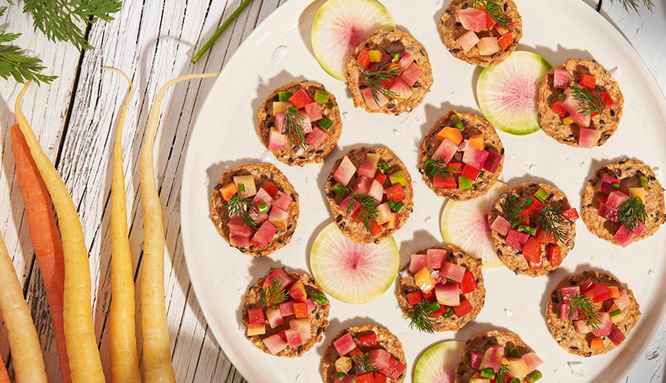
[[(552, 290), (548, 303), (545, 306), (545, 317), (548, 319), (548, 327), (552, 337), (555, 339), (559, 347), (564, 348), (570, 354), (580, 355), (581, 357), (591, 357), (593, 355), (605, 354), (613, 350), (616, 345), (607, 336), (602, 336), (604, 348), (603, 350), (592, 350), (589, 347), (591, 338), (594, 338), (592, 333), (579, 334), (575, 331), (575, 327), (571, 320), (562, 320), (559, 318), (559, 304), (562, 303), (562, 293), (560, 289), (571, 286), (581, 286), (585, 281), (591, 279), (594, 283), (603, 283), (607, 286), (616, 286), (620, 290), (624, 289), (624, 285), (611, 274), (603, 274), (601, 272), (587, 271), (580, 274), (569, 275), (564, 277), (555, 290)], [(625, 317), (621, 321), (615, 323), (617, 329), (620, 330), (624, 336), (628, 336), (631, 329), (634, 328), (638, 319), (640, 318), (640, 306), (636, 302), (633, 292), (627, 289), (630, 304), (625, 309)], [(621, 344), (621, 343), (620, 343)]]

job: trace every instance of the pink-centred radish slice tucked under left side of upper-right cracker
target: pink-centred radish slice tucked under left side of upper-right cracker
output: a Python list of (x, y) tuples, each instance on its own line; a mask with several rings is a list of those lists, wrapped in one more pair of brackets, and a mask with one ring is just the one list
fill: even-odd
[(483, 116), (502, 132), (524, 135), (541, 129), (537, 92), (550, 68), (550, 63), (538, 54), (513, 52), (500, 65), (484, 69), (477, 81)]

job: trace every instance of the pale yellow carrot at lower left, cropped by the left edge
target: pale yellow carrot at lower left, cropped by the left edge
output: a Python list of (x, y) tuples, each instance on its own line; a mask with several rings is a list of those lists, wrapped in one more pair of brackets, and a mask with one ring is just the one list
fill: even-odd
[[(17, 383), (48, 383), (37, 330), (0, 235), (0, 311), (5, 320)], [(0, 363), (1, 364), (1, 363)], [(4, 367), (4, 366), (3, 366)]]

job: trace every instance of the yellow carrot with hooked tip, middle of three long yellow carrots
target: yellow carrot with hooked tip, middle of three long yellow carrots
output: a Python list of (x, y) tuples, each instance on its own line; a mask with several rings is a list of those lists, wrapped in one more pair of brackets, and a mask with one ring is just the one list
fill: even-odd
[(134, 276), (130, 239), (127, 237), (127, 200), (123, 172), (123, 123), (132, 98), (132, 81), (116, 68), (102, 68), (123, 75), (130, 88), (118, 116), (114, 144), (114, 176), (111, 183), (111, 382), (141, 383), (134, 319)]

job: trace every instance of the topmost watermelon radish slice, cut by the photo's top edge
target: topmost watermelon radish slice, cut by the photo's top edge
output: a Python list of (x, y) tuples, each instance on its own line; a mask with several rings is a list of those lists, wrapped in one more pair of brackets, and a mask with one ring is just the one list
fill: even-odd
[(321, 68), (345, 81), (345, 65), (354, 49), (375, 31), (395, 27), (389, 11), (375, 0), (328, 0), (312, 24), (312, 50)]

